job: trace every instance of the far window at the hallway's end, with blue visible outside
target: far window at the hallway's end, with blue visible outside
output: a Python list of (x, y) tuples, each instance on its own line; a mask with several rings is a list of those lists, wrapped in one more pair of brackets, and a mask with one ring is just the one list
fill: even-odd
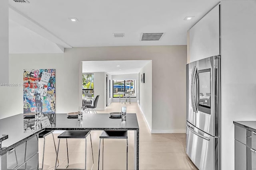
[(119, 98), (118, 92), (130, 92), (136, 98), (136, 80), (113, 80), (113, 98)]

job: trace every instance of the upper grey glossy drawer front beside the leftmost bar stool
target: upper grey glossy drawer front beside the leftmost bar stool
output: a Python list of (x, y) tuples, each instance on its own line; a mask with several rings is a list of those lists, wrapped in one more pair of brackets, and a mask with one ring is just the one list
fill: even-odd
[(38, 139), (36, 136), (32, 137), (27, 141), (26, 146), (26, 160), (31, 158), (34, 154), (38, 152)]

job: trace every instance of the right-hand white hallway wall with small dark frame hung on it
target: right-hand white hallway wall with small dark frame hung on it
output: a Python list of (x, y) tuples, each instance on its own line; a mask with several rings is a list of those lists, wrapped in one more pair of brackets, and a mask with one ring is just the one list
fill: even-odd
[(152, 61), (140, 70), (140, 74), (143, 73), (145, 75), (144, 83), (140, 83), (140, 109), (152, 132)]

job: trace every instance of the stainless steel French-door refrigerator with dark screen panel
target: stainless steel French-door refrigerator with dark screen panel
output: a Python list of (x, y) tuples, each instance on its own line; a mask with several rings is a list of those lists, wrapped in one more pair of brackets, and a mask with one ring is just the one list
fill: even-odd
[(220, 170), (220, 55), (186, 65), (186, 153), (199, 170)]

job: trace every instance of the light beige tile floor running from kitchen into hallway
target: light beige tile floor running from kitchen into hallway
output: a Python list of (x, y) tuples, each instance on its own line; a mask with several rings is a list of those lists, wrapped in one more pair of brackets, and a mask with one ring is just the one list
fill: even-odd
[[(186, 134), (151, 134), (137, 103), (121, 104), (112, 102), (105, 110), (98, 113), (120, 111), (121, 106), (127, 107), (127, 113), (136, 113), (140, 127), (140, 170), (192, 170), (197, 169), (185, 153)], [(93, 170), (98, 169), (99, 135), (102, 131), (92, 131), (92, 147), (94, 155)], [(56, 145), (59, 133), (54, 133)], [(90, 139), (89, 136), (87, 139)], [(43, 139), (39, 139), (39, 168), (42, 166)], [(68, 139), (69, 166), (68, 168), (84, 168), (84, 139)], [(58, 168), (67, 164), (66, 140), (60, 141)], [(101, 155), (102, 157), (102, 155)], [(100, 169), (101, 166), (100, 158)], [(56, 154), (52, 135), (46, 137), (44, 169), (54, 169)], [(87, 141), (87, 169), (92, 166), (92, 151), (90, 140)], [(134, 167), (134, 131), (128, 133), (128, 169)], [(126, 140), (104, 140), (104, 170), (126, 169)]]

